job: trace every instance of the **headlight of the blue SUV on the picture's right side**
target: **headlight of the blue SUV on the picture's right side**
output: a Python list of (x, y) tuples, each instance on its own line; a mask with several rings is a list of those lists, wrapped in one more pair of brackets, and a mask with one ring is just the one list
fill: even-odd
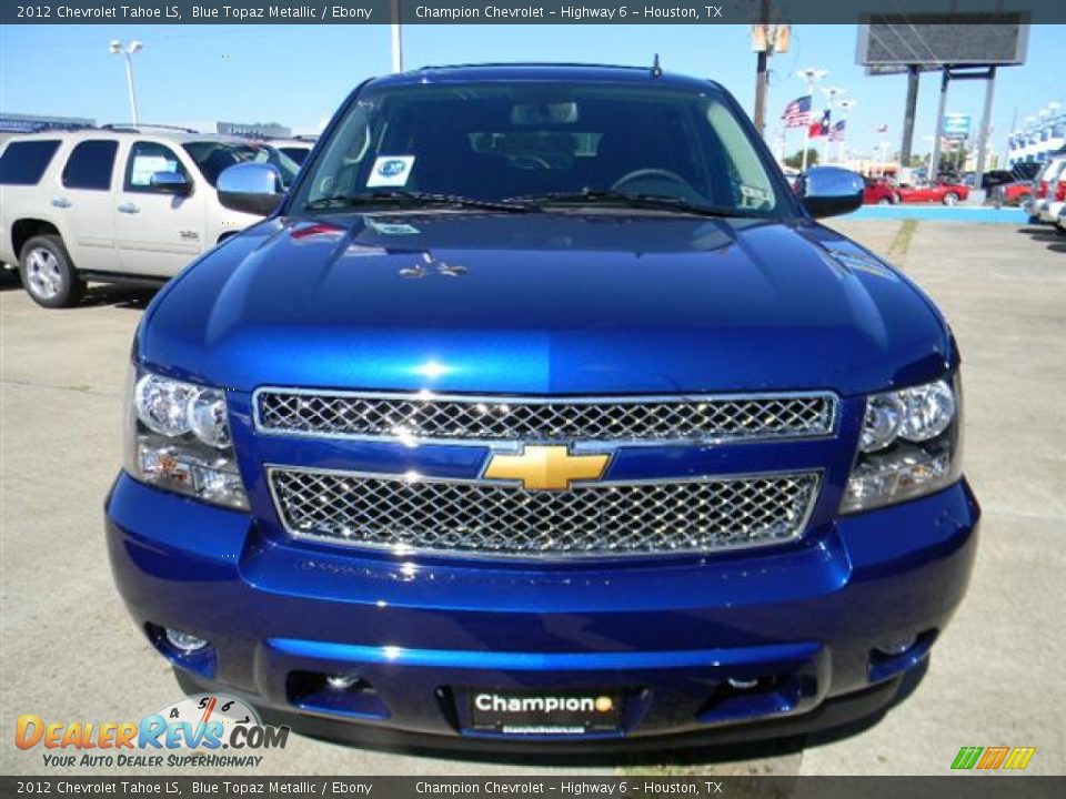
[(841, 513), (914, 499), (957, 481), (961, 416), (957, 380), (869, 396)]

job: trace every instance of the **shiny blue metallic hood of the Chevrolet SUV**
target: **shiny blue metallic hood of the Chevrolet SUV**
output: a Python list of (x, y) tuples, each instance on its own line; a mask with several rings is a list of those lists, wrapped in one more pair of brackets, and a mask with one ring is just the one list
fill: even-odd
[(137, 346), (242, 391), (847, 395), (955, 357), (928, 300), (826, 227), (616, 213), (266, 220), (172, 281)]

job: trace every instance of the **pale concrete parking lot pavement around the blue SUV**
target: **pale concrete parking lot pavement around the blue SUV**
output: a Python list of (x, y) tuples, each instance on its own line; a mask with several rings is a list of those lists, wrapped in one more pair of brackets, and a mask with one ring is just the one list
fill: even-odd
[[(833, 226), (913, 275), (963, 351), (982, 540), (969, 594), (905, 700), (833, 736), (640, 762), (529, 763), (476, 750), (459, 760), (293, 736), (245, 773), (943, 775), (961, 746), (997, 745), (1037, 747), (1029, 772), (1066, 771), (1066, 240), (914, 220)], [(0, 286), (0, 773), (160, 773), (49, 769), (40, 748), (13, 742), (20, 714), (134, 720), (180, 697), (114, 591), (102, 537), (130, 341), (149, 297), (98, 287), (78, 309), (44, 311), (17, 284)]]

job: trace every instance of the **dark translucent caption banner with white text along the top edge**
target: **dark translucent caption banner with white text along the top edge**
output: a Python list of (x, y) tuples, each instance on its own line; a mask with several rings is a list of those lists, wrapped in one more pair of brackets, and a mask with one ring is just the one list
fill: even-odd
[(2, 0), (0, 23), (853, 24), (889, 13), (905, 24), (907, 13), (990, 11), (1023, 12), (1032, 23), (1066, 22), (1064, 0)]

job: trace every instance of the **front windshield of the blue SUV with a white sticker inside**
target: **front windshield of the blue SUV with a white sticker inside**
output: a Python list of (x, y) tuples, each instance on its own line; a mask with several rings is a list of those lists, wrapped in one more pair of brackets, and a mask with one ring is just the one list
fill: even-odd
[(708, 87), (418, 84), (374, 89), (341, 120), (292, 210), (443, 198), (724, 214), (792, 211), (745, 128)]

